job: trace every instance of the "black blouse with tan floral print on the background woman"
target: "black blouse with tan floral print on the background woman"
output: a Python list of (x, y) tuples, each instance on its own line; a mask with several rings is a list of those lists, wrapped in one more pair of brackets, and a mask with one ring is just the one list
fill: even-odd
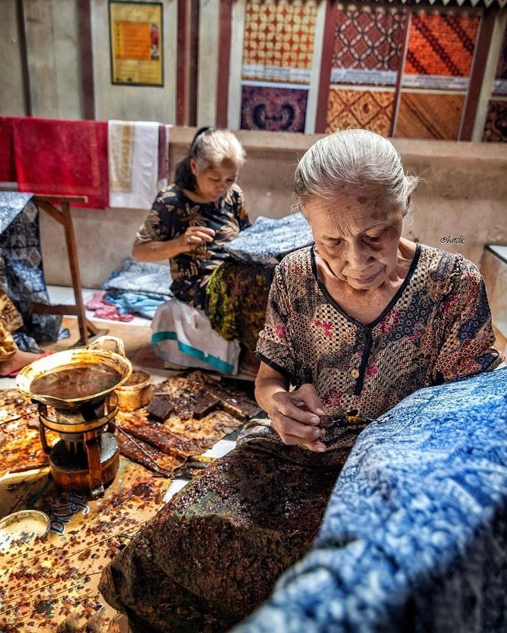
[(171, 184), (158, 193), (134, 244), (166, 242), (183, 235), (188, 226), (209, 226), (215, 230), (215, 237), (191, 253), (169, 259), (171, 290), (181, 301), (204, 310), (209, 277), (228, 257), (222, 245), (250, 226), (240, 187), (234, 184), (218, 202), (203, 204), (193, 202), (183, 189)]

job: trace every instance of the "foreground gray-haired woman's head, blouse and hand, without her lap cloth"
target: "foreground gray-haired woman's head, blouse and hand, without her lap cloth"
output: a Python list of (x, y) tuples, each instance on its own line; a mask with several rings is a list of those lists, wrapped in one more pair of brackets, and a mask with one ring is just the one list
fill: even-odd
[(315, 245), (278, 266), (257, 347), (256, 398), (284, 443), (325, 451), (324, 413), (376, 418), (501, 363), (477, 268), (402, 237), (416, 184), (366, 130), (322, 138), (298, 164)]

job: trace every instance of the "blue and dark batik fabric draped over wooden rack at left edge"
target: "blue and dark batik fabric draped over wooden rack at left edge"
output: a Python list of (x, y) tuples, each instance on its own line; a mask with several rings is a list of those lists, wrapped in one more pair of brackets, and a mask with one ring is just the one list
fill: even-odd
[[(23, 317), (14, 335), (22, 350), (38, 351), (37, 342), (56, 341), (61, 317), (31, 314), (32, 303), (50, 303), (39, 239), (39, 211), (30, 193), (0, 193), (0, 283)], [(34, 340), (33, 340), (34, 339)]]

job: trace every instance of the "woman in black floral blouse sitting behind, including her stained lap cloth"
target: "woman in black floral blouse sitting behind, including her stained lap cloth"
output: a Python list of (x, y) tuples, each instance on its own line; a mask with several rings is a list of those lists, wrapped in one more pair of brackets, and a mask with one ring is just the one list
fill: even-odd
[[(256, 372), (273, 268), (230, 261), (223, 246), (250, 226), (236, 178), (245, 153), (233, 133), (203, 127), (139, 228), (132, 255), (169, 258), (174, 296), (203, 310), (225, 340), (242, 344), (242, 369)], [(228, 261), (229, 260), (229, 261)]]

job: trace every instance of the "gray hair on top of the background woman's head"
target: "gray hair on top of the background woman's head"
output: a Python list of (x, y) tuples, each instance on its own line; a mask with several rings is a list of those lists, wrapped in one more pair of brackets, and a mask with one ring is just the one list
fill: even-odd
[(245, 162), (245, 151), (236, 136), (227, 129), (207, 129), (196, 136), (191, 148), (191, 158), (195, 158), (199, 169), (216, 167), (224, 160), (230, 160), (241, 167)]

